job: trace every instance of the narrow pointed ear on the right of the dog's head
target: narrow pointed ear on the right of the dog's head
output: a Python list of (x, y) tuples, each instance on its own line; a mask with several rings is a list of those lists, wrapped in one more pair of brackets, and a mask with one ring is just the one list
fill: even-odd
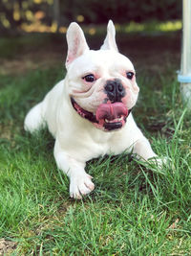
[(116, 29), (112, 20), (108, 22), (107, 35), (104, 43), (100, 48), (101, 50), (114, 50), (118, 52), (116, 43)]

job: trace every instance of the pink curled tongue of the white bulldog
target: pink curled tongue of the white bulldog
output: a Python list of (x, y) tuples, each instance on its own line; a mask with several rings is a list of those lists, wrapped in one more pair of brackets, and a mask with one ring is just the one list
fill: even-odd
[(122, 103), (115, 104), (101, 104), (96, 109), (96, 120), (102, 119), (114, 120), (120, 116), (127, 116), (128, 109), (126, 105)]

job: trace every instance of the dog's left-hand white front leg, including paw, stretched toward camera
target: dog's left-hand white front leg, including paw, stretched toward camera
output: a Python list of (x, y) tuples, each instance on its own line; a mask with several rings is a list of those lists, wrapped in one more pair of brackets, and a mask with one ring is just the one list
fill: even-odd
[(80, 199), (94, 190), (95, 184), (92, 182), (92, 176), (84, 170), (85, 162), (77, 161), (66, 151), (63, 151), (57, 141), (55, 141), (54, 146), (54, 157), (57, 167), (70, 178), (71, 198)]

